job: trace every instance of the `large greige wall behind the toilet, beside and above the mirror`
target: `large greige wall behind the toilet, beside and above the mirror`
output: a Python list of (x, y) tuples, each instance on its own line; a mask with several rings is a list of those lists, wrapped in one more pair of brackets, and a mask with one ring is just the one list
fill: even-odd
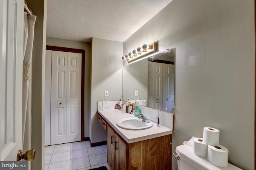
[(215, 127), (229, 162), (254, 169), (254, 37), (254, 0), (173, 0), (124, 42), (176, 48), (173, 151)]

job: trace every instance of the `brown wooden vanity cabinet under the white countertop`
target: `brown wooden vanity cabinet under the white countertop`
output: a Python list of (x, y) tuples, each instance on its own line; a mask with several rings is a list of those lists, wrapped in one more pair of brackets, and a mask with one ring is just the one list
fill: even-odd
[(172, 169), (172, 134), (126, 143), (108, 123), (106, 130), (107, 159), (111, 170)]

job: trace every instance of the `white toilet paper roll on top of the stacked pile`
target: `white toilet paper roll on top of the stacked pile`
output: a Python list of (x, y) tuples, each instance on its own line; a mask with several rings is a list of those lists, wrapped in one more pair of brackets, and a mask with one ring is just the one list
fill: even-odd
[(203, 140), (208, 145), (219, 145), (220, 131), (213, 127), (204, 127)]

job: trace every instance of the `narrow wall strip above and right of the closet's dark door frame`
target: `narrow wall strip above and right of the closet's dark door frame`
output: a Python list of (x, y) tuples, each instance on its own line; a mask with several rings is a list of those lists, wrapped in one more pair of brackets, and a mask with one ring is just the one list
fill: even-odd
[(84, 59), (84, 137), (89, 137), (91, 43), (46, 37), (46, 45), (85, 50), (85, 59)]

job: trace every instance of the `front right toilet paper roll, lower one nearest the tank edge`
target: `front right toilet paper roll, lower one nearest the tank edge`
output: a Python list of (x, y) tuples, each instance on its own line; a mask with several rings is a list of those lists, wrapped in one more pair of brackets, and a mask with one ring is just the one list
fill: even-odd
[(215, 166), (228, 166), (228, 149), (221, 145), (208, 145), (207, 159)]

